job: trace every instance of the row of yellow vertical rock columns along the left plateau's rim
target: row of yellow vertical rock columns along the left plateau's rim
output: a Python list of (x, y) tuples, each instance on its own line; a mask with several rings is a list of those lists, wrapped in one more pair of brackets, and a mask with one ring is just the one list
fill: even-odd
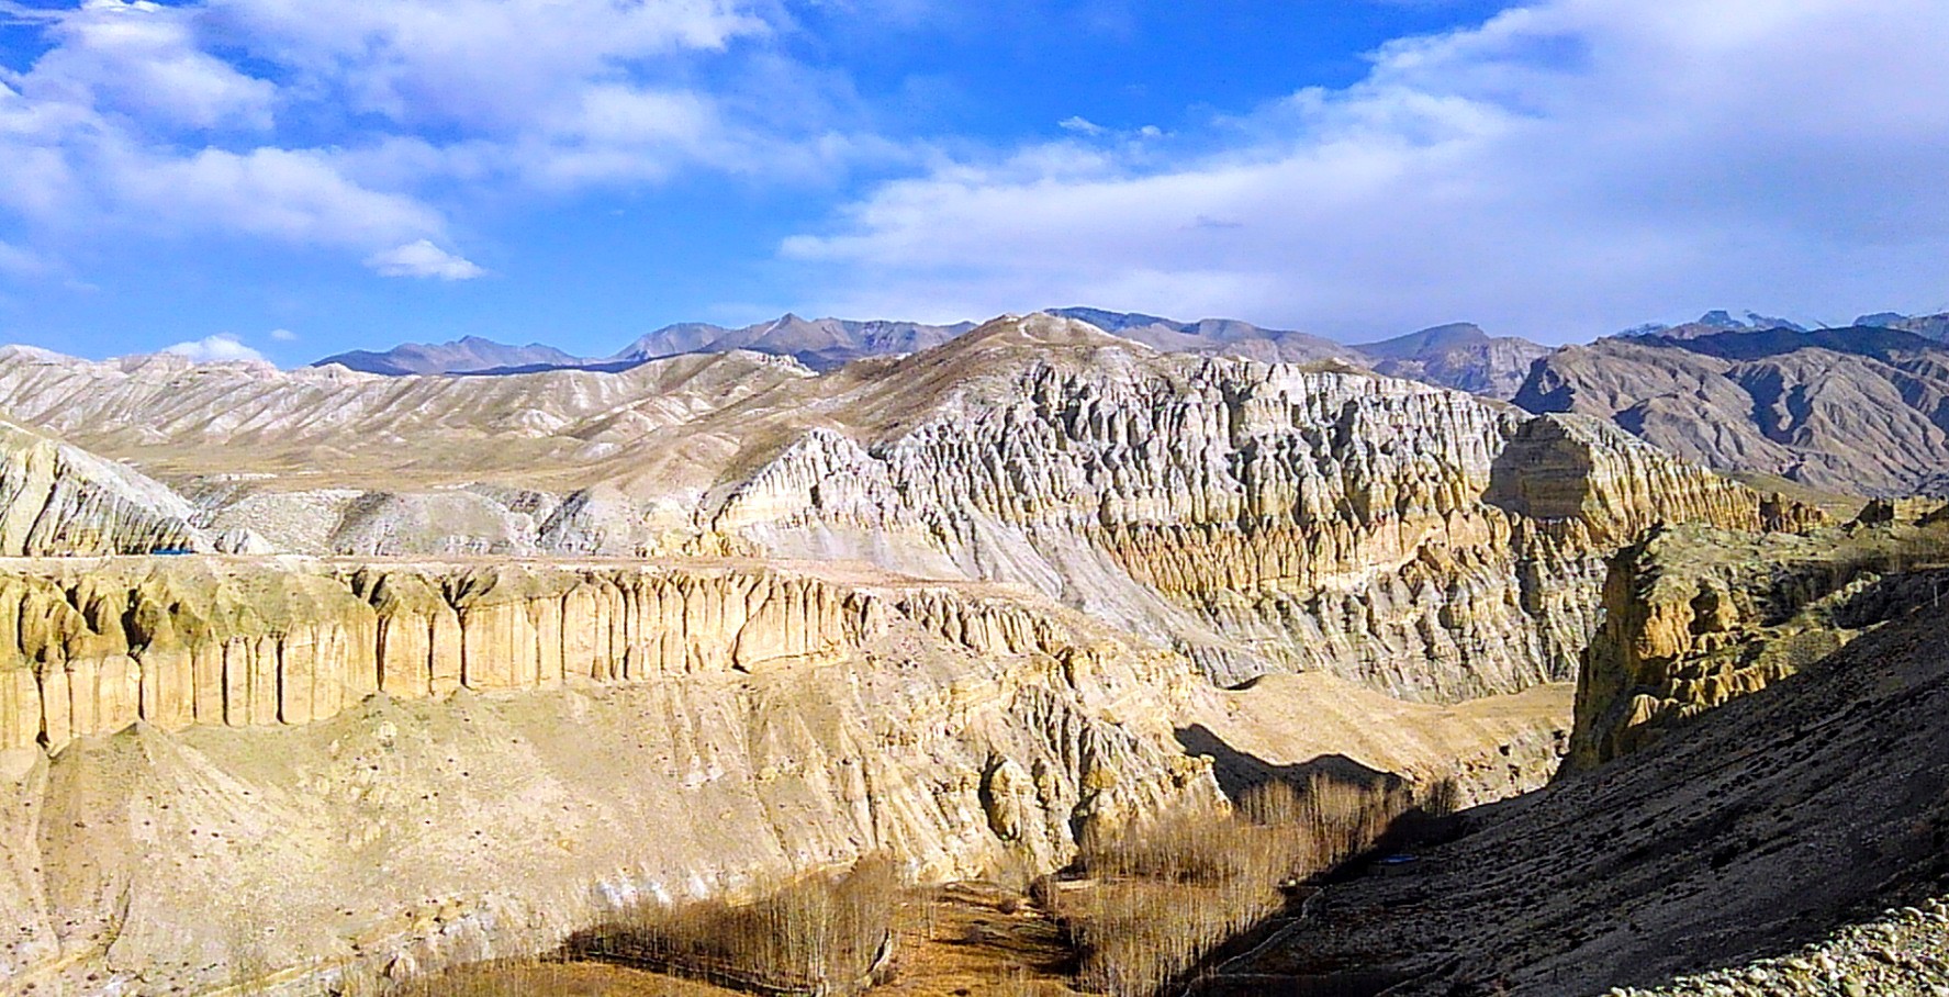
[(863, 588), (762, 565), (312, 567), (31, 563), (0, 576), (0, 748), (306, 724), (386, 693), (548, 689), (834, 662), (897, 627), (1089, 670), (1045, 615), (955, 588)]

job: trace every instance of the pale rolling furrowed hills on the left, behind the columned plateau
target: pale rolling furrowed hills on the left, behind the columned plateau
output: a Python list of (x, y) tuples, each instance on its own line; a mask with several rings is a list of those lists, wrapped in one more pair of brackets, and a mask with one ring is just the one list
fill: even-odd
[(805, 378), (811, 372), (791, 360), (750, 352), (626, 372), (384, 378), (0, 349), (0, 407), (18, 419), (177, 485), (228, 475), (273, 491), (474, 481), (577, 489), (614, 477), (612, 458), (626, 450), (633, 465), (649, 462), (641, 471), (682, 479), (686, 452), (713, 463), (729, 448), (694, 434), (672, 448), (661, 430)]

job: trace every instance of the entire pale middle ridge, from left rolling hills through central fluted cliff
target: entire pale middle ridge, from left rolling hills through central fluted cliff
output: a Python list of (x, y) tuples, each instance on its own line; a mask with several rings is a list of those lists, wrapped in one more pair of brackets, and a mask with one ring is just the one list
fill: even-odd
[(1049, 315), (826, 376), (754, 354), (509, 378), (14, 354), (0, 405), (285, 549), (840, 557), (1019, 582), (1228, 683), (1329, 668), (1434, 699), (1567, 680), (1602, 557), (1653, 522), (1764, 520), (1756, 493), (1590, 421)]

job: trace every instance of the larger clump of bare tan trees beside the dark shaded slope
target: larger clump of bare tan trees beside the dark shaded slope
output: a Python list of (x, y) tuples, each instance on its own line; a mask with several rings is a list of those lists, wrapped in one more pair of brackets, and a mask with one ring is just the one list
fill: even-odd
[[(1446, 798), (1452, 798), (1448, 793)], [(1314, 777), (1084, 841), (1084, 888), (1045, 892), (1082, 956), (1080, 983), (1150, 997), (1284, 905), (1284, 886), (1370, 849), (1413, 808), (1399, 785)]]

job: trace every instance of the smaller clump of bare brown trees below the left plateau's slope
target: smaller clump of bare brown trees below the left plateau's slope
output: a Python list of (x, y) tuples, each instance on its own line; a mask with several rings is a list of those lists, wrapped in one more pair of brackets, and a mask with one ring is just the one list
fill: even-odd
[(858, 993), (891, 954), (898, 892), (891, 861), (863, 859), (752, 904), (639, 904), (567, 952), (758, 993)]

